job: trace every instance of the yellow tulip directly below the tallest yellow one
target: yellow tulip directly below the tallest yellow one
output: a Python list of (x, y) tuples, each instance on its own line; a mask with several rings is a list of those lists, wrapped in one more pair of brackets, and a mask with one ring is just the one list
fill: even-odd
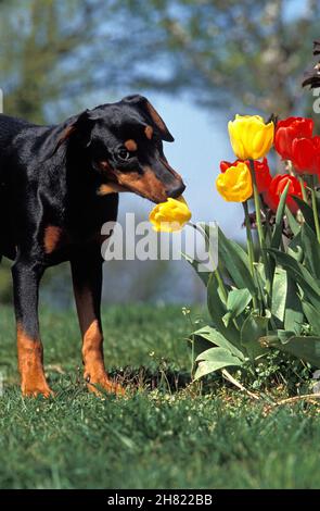
[(216, 186), (228, 202), (244, 202), (253, 195), (251, 172), (244, 162), (238, 162), (236, 166), (229, 166), (219, 174)]

